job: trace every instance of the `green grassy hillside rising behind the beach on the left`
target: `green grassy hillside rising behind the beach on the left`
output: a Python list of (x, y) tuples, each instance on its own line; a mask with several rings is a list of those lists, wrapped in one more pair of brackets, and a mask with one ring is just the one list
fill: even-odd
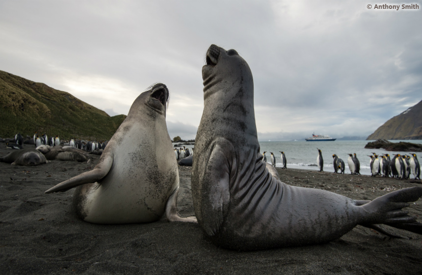
[(110, 117), (73, 95), (0, 71), (0, 137), (34, 132), (61, 139), (111, 138), (126, 115)]

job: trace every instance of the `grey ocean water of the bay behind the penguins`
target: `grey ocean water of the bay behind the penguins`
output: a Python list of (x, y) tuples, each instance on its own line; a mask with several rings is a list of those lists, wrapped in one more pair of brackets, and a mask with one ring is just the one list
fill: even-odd
[[(324, 171), (334, 172), (333, 165), (333, 154), (336, 154), (340, 159), (343, 160), (345, 169), (344, 173), (350, 173), (349, 166), (347, 165), (347, 159), (349, 155), (356, 153), (356, 156), (361, 164), (360, 173), (362, 175), (370, 175), (370, 158), (369, 155), (372, 155), (372, 152), (380, 154), (390, 154), (393, 158), (394, 154), (407, 154), (410, 156), (410, 153), (415, 152), (393, 152), (386, 151), (384, 149), (365, 149), (365, 145), (371, 140), (335, 140), (335, 141), (260, 141), (261, 154), (266, 151), (266, 160), (267, 163), (271, 164), (270, 152), (273, 152), (275, 155), (276, 166), (281, 167), (281, 154), (279, 151), (284, 151), (284, 154), (287, 159), (287, 168), (297, 168), (297, 169), (308, 169), (319, 171), (317, 166), (317, 156), (319, 148), (322, 152), (322, 158), (324, 159)], [(422, 140), (394, 140), (393, 142), (412, 142), (422, 144)], [(177, 143), (173, 143), (175, 145)], [(186, 148), (194, 148), (194, 145), (185, 145)], [(176, 148), (176, 147), (175, 147)], [(180, 146), (178, 147), (180, 148)], [(194, 149), (195, 150), (195, 149)], [(416, 152), (419, 163), (422, 162), (422, 153)], [(413, 175), (410, 176), (413, 178)]]

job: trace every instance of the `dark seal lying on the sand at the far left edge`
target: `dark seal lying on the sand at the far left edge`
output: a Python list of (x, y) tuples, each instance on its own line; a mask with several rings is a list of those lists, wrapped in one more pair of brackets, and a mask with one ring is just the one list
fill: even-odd
[(13, 151), (0, 158), (0, 162), (12, 165), (35, 166), (47, 163), (46, 157), (34, 148), (25, 148)]

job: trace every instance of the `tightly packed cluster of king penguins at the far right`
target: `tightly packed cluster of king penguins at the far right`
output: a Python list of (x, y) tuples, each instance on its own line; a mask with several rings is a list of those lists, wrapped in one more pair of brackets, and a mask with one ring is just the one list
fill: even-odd
[[(412, 157), (408, 155), (395, 154), (393, 159), (389, 154), (377, 155), (372, 152), (370, 158), (371, 176), (382, 175), (383, 177), (395, 177), (399, 179), (408, 179), (410, 173), (415, 179), (421, 179), (421, 166), (415, 153)], [(379, 157), (379, 158), (378, 158)]]

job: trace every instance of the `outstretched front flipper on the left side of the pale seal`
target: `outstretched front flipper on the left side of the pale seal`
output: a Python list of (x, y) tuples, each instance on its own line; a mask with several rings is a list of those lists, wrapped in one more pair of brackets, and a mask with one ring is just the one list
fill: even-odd
[(45, 193), (48, 194), (53, 192), (65, 192), (82, 184), (99, 181), (107, 175), (108, 171), (110, 171), (111, 169), (111, 165), (113, 165), (112, 154), (100, 159), (98, 165), (95, 166), (95, 168), (91, 171), (87, 171), (85, 173), (80, 174), (79, 176), (73, 177), (62, 183), (59, 183), (56, 186), (47, 190)]

